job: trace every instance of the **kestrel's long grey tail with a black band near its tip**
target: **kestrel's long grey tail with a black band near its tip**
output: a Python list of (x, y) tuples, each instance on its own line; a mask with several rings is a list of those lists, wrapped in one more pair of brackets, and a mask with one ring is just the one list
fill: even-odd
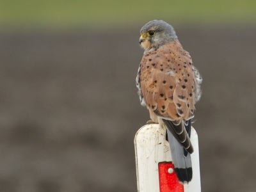
[[(183, 122), (181, 122), (180, 124), (182, 124), (182, 126), (184, 126), (185, 129), (188, 126), (188, 125), (185, 125)], [(190, 127), (189, 127), (189, 130), (186, 129), (186, 132), (190, 136)], [(191, 156), (189, 152), (187, 152), (187, 150), (185, 150), (184, 147), (182, 147), (182, 145), (180, 144), (180, 141), (178, 141), (175, 138), (175, 136), (173, 136), (168, 125), (167, 125), (167, 133), (168, 133), (168, 141), (170, 144), (170, 149), (172, 152), (172, 161), (175, 168), (175, 173), (180, 182), (182, 182), (183, 184), (188, 183), (189, 181), (191, 181), (193, 176)]]

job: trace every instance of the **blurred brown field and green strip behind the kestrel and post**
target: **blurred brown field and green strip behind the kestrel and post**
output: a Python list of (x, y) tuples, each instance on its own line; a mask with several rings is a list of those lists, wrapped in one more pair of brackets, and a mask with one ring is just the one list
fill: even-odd
[(0, 191), (136, 191), (135, 78), (150, 20), (203, 76), (202, 191), (256, 188), (256, 1), (0, 1)]

